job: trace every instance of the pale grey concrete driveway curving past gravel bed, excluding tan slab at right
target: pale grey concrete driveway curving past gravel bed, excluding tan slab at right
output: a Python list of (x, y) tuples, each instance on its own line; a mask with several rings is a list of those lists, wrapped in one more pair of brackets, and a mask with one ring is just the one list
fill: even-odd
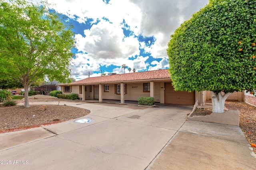
[(0, 160), (9, 163), (3, 162), (0, 169), (143, 170), (192, 110), (192, 106), (136, 109), (65, 104), (89, 109), (91, 113), (85, 117), (92, 121), (82, 124), (71, 120), (0, 134)]

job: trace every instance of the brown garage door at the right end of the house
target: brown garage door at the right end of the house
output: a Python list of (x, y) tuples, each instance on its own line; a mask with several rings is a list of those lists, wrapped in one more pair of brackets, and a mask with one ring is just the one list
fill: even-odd
[(164, 103), (166, 104), (195, 104), (195, 92), (174, 91), (171, 82), (164, 83)]

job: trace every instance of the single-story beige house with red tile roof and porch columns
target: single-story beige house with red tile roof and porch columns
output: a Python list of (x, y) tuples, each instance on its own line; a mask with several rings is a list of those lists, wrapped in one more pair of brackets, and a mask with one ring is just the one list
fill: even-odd
[(150, 96), (162, 104), (194, 105), (196, 100), (201, 101), (202, 95), (201, 92), (174, 91), (168, 69), (90, 77), (58, 86), (63, 94), (77, 93), (81, 100), (120, 100), (121, 104)]

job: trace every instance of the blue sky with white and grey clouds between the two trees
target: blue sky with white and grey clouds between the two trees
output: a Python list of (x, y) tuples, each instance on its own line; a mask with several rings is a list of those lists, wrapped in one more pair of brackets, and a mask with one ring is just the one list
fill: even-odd
[[(170, 35), (208, 0), (48, 0), (74, 25), (76, 80), (169, 68)], [(125, 73), (128, 73), (125, 69)], [(131, 71), (132, 72), (132, 71)]]

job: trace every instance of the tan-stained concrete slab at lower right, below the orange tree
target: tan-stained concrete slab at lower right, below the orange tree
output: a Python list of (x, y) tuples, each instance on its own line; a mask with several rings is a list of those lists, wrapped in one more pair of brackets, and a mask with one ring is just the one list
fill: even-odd
[(147, 170), (256, 170), (240, 127), (186, 121)]

